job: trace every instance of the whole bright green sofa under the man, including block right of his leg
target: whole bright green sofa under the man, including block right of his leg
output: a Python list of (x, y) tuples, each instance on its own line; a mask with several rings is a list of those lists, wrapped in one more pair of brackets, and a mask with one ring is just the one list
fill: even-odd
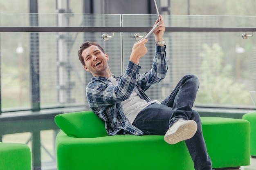
[[(92, 111), (60, 114), (55, 122), (58, 170), (194, 170), (185, 142), (170, 145), (163, 136), (108, 136)], [(249, 122), (202, 117), (213, 168), (249, 165)]]

